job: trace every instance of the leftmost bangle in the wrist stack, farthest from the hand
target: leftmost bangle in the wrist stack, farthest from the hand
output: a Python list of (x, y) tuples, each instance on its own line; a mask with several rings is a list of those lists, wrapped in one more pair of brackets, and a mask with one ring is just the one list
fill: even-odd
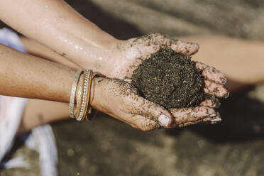
[(70, 94), (70, 106), (69, 106), (70, 118), (75, 118), (75, 113), (74, 113), (75, 94), (76, 94), (76, 89), (77, 89), (79, 77), (80, 77), (80, 75), (82, 75), (82, 72), (83, 72), (82, 70), (77, 70), (77, 72), (75, 73), (75, 78), (73, 79), (72, 90), (71, 90), (71, 94)]

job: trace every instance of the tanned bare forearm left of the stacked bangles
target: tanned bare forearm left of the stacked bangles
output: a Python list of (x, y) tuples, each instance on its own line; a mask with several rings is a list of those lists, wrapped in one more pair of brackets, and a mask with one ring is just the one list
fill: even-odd
[(0, 94), (69, 102), (75, 70), (0, 45)]

